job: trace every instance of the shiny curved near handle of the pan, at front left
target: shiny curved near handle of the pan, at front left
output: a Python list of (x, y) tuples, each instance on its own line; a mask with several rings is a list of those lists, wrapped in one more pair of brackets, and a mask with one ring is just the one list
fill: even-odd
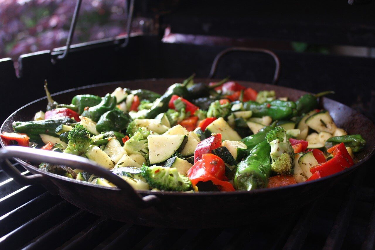
[[(130, 199), (137, 202), (138, 205), (142, 207), (153, 205), (159, 200), (159, 198), (153, 194), (145, 197), (140, 196), (120, 176), (111, 173), (107, 169), (104, 169), (94, 161), (90, 161), (89, 159), (80, 157), (78, 155), (62, 154), (59, 152), (21, 146), (7, 146), (0, 149), (0, 163), (3, 163), (4, 161), (6, 163), (10, 163), (7, 159), (11, 157), (22, 157), (31, 161), (40, 161), (40, 159), (43, 159), (43, 162), (71, 166), (77, 169), (85, 170), (89, 173), (93, 173), (94, 175), (103, 177), (115, 184), (118, 188), (120, 188), (121, 191), (129, 195)], [(16, 181), (20, 181), (21, 184), (30, 185), (42, 180), (42, 175), (40, 174), (21, 176), (20, 172), (11, 164), (1, 164), (1, 166), (6, 173), (12, 176)]]

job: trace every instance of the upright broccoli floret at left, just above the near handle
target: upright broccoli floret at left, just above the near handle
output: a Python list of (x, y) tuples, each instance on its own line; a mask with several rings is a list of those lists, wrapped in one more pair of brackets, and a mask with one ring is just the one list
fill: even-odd
[(75, 125), (75, 127), (69, 131), (68, 134), (68, 147), (64, 150), (64, 153), (73, 155), (83, 155), (92, 143), (90, 133), (82, 125)]

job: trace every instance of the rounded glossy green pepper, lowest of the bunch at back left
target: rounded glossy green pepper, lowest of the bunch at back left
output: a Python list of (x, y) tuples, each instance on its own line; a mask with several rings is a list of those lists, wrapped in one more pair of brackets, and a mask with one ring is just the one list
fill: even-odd
[(115, 108), (102, 114), (96, 123), (96, 130), (99, 132), (124, 130), (131, 121), (129, 114)]

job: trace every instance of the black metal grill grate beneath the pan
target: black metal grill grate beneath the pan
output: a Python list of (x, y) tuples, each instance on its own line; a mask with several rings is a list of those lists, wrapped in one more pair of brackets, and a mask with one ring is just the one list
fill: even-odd
[[(373, 160), (372, 160), (373, 162)], [(20, 165), (19, 170), (28, 174)], [(40, 186), (21, 187), (0, 171), (0, 249), (373, 249), (372, 164), (327, 195), (276, 221), (225, 229), (161, 229), (109, 220), (76, 208)], [(365, 181), (364, 181), (365, 179)], [(368, 185), (364, 185), (368, 184)]]

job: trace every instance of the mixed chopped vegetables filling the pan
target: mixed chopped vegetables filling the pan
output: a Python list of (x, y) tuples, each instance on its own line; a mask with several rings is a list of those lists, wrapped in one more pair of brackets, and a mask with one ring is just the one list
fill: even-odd
[[(45, 90), (46, 111), (13, 122), (3, 140), (79, 155), (121, 176), (133, 188), (166, 191), (254, 190), (322, 178), (351, 167), (366, 141), (338, 128), (317, 95), (296, 102), (234, 81), (194, 83), (163, 95), (118, 87), (104, 97), (77, 95), (59, 104)], [(80, 169), (40, 169), (107, 187)]]

